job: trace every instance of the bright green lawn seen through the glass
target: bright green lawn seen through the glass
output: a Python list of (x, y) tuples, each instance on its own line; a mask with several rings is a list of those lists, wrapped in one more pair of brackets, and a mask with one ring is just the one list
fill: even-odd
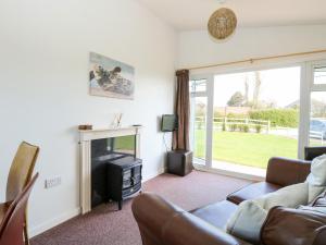
[[(204, 157), (203, 130), (196, 131), (195, 156)], [(271, 157), (297, 158), (298, 140), (277, 135), (214, 132), (213, 160), (266, 168)]]

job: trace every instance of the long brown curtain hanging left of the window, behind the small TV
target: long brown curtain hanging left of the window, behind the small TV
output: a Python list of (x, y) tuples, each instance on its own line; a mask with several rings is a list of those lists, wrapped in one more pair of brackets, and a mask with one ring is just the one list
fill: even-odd
[(189, 71), (177, 71), (176, 76), (175, 113), (178, 117), (178, 130), (173, 134), (173, 149), (189, 150)]

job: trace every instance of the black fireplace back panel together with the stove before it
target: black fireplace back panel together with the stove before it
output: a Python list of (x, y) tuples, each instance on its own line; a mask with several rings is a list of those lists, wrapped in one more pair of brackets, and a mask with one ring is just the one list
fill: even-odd
[(122, 203), (141, 189), (141, 159), (136, 158), (136, 136), (91, 142), (91, 207), (109, 200)]

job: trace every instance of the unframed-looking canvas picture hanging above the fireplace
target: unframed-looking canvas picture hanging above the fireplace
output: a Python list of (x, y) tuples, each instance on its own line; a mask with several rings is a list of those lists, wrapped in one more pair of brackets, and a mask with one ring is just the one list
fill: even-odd
[(90, 95), (134, 99), (135, 69), (131, 65), (90, 52)]

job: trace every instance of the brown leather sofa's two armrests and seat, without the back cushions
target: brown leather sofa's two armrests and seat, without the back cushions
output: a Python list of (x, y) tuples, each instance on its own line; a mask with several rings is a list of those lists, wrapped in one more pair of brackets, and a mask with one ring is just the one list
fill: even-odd
[[(190, 212), (155, 194), (145, 193), (133, 203), (134, 217), (138, 222), (143, 245), (248, 245), (249, 243), (224, 232), (226, 222), (236, 211), (237, 205), (305, 181), (310, 173), (310, 163), (303, 160), (272, 158), (265, 182), (250, 184), (230, 194), (226, 200)], [(293, 242), (292, 245), (294, 244), (297, 243)]]

